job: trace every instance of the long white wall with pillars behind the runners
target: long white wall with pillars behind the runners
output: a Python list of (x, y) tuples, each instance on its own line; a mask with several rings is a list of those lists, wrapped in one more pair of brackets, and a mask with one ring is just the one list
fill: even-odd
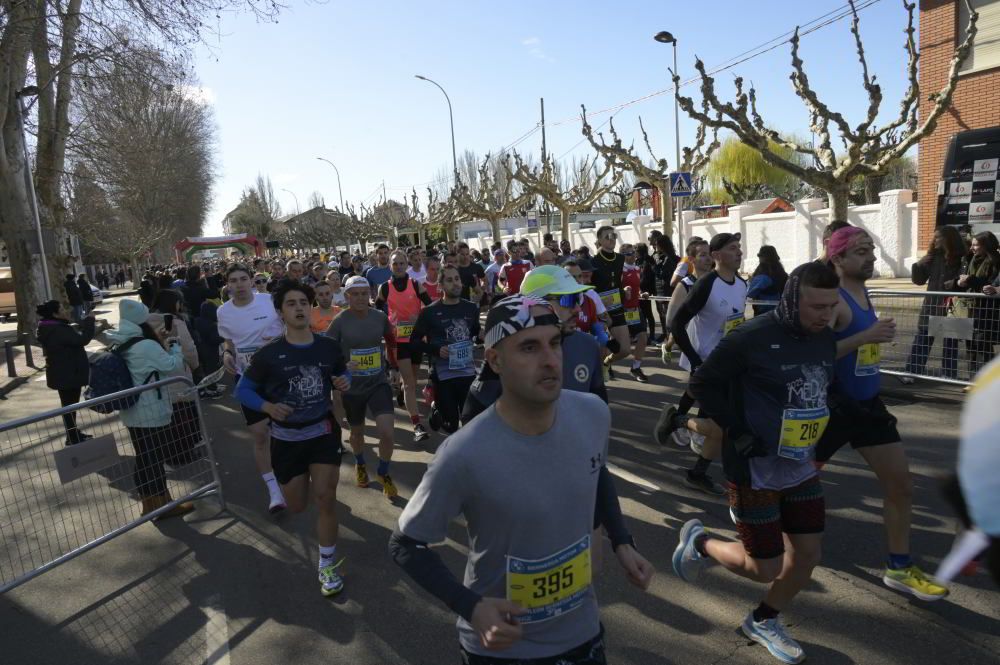
[[(787, 270), (816, 259), (822, 252), (823, 227), (829, 223), (830, 210), (824, 199), (802, 199), (795, 202), (793, 212), (760, 214), (765, 202), (753, 201), (729, 208), (727, 217), (698, 219), (698, 213), (683, 212), (681, 233), (685, 239), (701, 236), (706, 240), (722, 232), (743, 234), (743, 269), (752, 272), (757, 265), (757, 251), (761, 245), (772, 245), (778, 250)], [(913, 192), (908, 189), (894, 189), (879, 194), (879, 203), (867, 206), (852, 206), (847, 213), (847, 221), (868, 231), (875, 240), (878, 258), (875, 262), (877, 277), (908, 277), (910, 265), (920, 256), (917, 247), (917, 206), (913, 202)], [(610, 223), (610, 222), (609, 222)], [(601, 226), (600, 222), (597, 226)], [(574, 248), (587, 245), (594, 248), (595, 229), (580, 229), (579, 224), (570, 224), (570, 243)], [(656, 225), (659, 227), (659, 224)], [(616, 226), (619, 243), (645, 242), (651, 229), (648, 217), (635, 217), (630, 223)], [(554, 231), (558, 237), (558, 229)], [(537, 251), (541, 234), (534, 230), (515, 229), (513, 234), (505, 233), (500, 240), (504, 243), (511, 238), (526, 238), (532, 249)], [(489, 245), (490, 234), (480, 233), (480, 244)], [(675, 231), (674, 243), (678, 251), (683, 246), (678, 242)]]

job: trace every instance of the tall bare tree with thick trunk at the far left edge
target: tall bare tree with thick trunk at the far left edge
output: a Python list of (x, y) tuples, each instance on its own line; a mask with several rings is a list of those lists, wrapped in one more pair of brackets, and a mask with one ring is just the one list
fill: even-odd
[[(210, 31), (206, 16), (249, 10), (272, 20), (280, 5), (272, 0), (0, 0), (0, 236), (15, 275), (18, 332), (31, 334), (34, 305), (40, 300), (36, 276), (38, 248), (31, 246), (33, 215), (28, 199), (28, 163), (18, 120), (29, 76), (37, 98), (37, 197), (43, 224), (62, 234), (65, 202), (61, 179), (71, 133), (74, 80), (89, 63), (114, 57), (128, 61), (121, 36), (141, 34), (178, 55)], [(66, 265), (64, 243), (51, 248), (53, 270)], [(55, 280), (57, 295), (62, 280)]]

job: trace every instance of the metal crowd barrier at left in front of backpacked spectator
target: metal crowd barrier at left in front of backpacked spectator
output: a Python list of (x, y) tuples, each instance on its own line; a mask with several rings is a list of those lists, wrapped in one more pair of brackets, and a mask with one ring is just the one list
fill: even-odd
[[(129, 428), (121, 412), (91, 409), (154, 392), (173, 400), (166, 427)], [(80, 433), (92, 438), (72, 443)], [(0, 424), (0, 593), (209, 495), (224, 505), (198, 392), (184, 377)]]

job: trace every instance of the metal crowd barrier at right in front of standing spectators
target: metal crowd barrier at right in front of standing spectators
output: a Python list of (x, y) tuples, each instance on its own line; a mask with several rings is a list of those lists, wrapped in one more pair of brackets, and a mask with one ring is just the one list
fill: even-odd
[[(880, 348), (883, 374), (972, 385), (996, 355), (1000, 294), (873, 290), (869, 297), (879, 318), (896, 323), (896, 339)], [(755, 305), (774, 304), (748, 300), (747, 319), (753, 318)]]

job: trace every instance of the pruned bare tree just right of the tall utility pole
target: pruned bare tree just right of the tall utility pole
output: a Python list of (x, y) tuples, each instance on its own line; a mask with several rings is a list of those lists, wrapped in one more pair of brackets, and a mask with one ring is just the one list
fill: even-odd
[[(580, 164), (575, 187), (564, 189), (559, 185), (555, 165), (551, 159), (546, 159), (541, 166), (529, 166), (516, 152), (514, 170), (506, 167), (510, 176), (521, 183), (523, 191), (529, 195), (542, 197), (553, 208), (559, 211), (561, 234), (569, 238), (569, 218), (574, 213), (587, 212), (595, 203), (601, 200), (621, 179), (621, 171), (614, 163), (605, 160), (601, 165), (595, 156), (592, 160), (585, 159)], [(593, 170), (593, 174), (587, 172)]]

